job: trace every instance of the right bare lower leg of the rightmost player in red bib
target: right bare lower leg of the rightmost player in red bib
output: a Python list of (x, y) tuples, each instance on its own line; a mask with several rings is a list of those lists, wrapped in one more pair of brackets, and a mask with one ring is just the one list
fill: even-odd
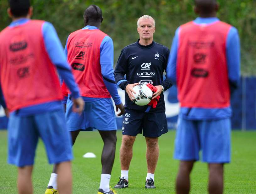
[(223, 193), (223, 164), (208, 164), (209, 167), (209, 184), (208, 191), (210, 194)]

